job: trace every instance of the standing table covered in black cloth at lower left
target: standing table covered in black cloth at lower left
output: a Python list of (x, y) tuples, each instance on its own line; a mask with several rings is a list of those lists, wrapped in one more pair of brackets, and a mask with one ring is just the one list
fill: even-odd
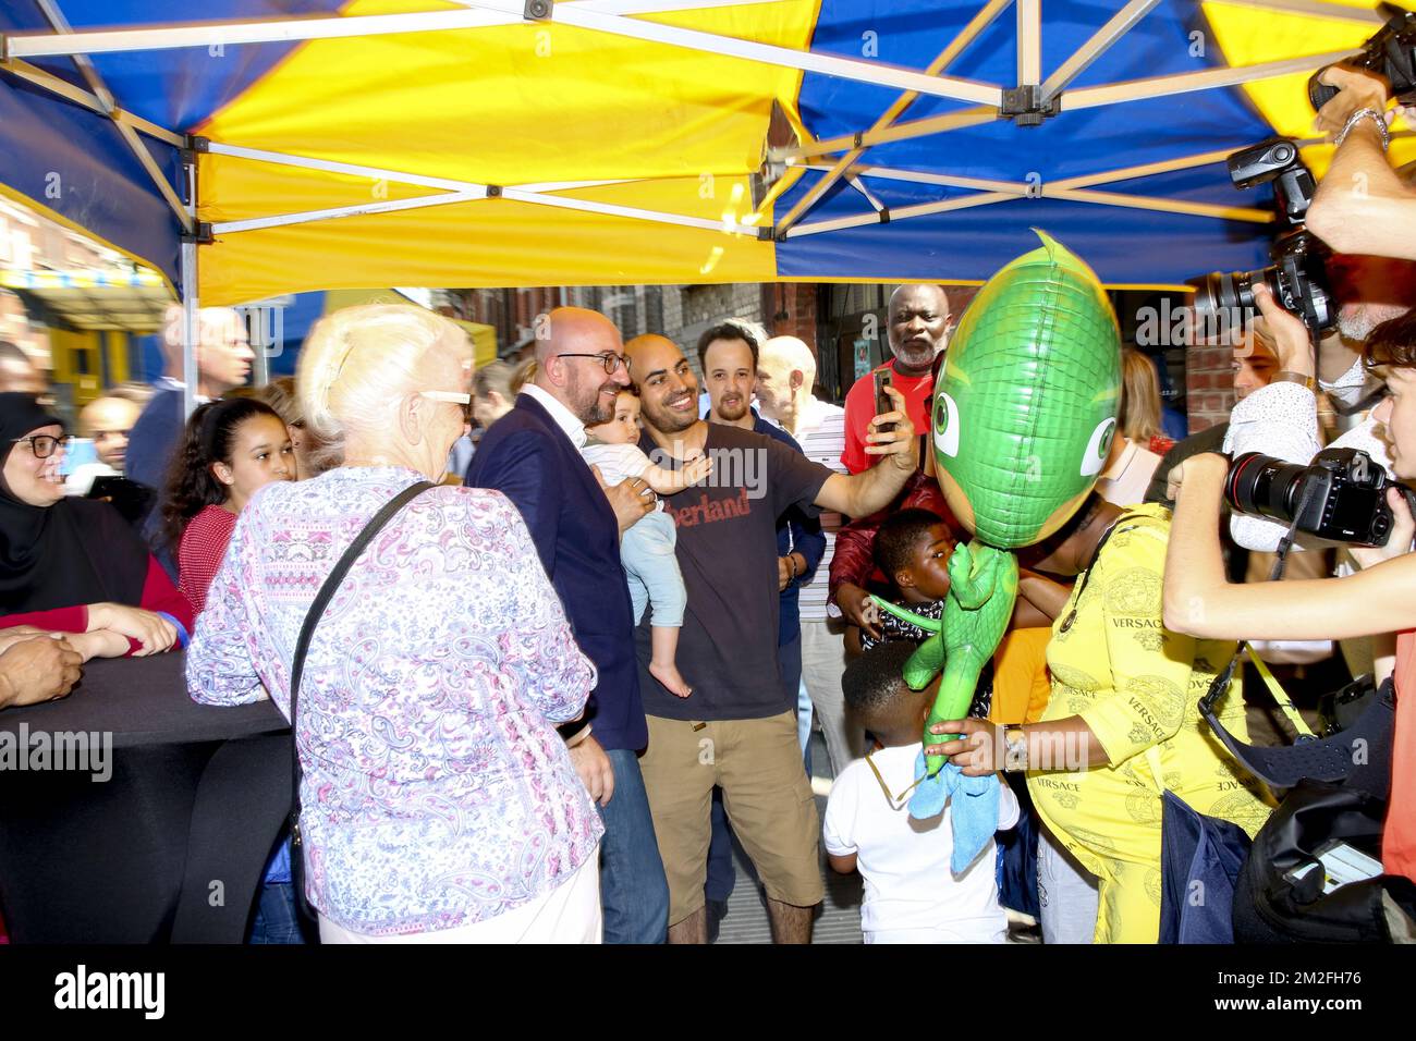
[[(62, 701), (0, 712), (0, 915), (16, 943), (245, 938), (289, 813), (290, 729), (269, 701), (193, 702), (183, 659), (91, 661)], [(41, 765), (40, 742), (78, 732), (110, 735), (108, 780), (101, 756), (6, 759), (27, 744)]]

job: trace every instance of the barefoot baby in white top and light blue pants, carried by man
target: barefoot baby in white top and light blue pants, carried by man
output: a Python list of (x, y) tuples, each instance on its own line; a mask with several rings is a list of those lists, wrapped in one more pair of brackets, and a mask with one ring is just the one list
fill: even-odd
[[(697, 484), (712, 470), (712, 463), (694, 459), (681, 470), (666, 470), (649, 462), (639, 446), (639, 395), (623, 389), (615, 398), (615, 418), (585, 431), (589, 442), (581, 450), (585, 462), (598, 466), (606, 484), (639, 477), (661, 496), (683, 491)], [(640, 517), (620, 537), (620, 559), (629, 576), (629, 595), (634, 605), (634, 625), (644, 615), (644, 605), (653, 603), (650, 616), (650, 661), (649, 671), (671, 693), (681, 698), (692, 694), (692, 688), (678, 674), (678, 630), (684, 625), (684, 576), (674, 557), (674, 521), (666, 514), (664, 504)]]

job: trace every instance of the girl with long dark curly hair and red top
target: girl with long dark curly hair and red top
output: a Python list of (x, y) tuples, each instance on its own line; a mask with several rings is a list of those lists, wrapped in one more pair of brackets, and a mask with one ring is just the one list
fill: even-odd
[(163, 534), (177, 554), (177, 585), (198, 615), (246, 500), (295, 473), (285, 421), (263, 401), (222, 398), (191, 414), (167, 470), (161, 508)]

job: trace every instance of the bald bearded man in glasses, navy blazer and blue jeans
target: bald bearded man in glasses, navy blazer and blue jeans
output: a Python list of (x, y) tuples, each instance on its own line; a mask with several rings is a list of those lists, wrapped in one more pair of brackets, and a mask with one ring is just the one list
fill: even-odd
[(605, 942), (663, 943), (668, 882), (639, 770), (649, 728), (619, 555), (620, 533), (653, 508), (654, 493), (639, 479), (605, 489), (581, 456), (585, 428), (613, 418), (615, 397), (629, 385), (619, 330), (598, 312), (558, 307), (542, 331), (534, 380), (487, 428), (466, 483), (515, 503), (575, 642), (598, 670), (585, 719), (562, 734), (605, 821)]

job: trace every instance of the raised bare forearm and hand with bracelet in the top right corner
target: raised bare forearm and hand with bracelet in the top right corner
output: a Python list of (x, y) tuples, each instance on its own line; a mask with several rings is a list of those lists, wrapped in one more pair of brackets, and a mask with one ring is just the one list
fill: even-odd
[(1317, 118), (1337, 152), (1308, 228), (1338, 252), (1416, 261), (1416, 191), (1386, 161), (1388, 126), (1396, 115), (1416, 123), (1416, 106), (1388, 112), (1386, 84), (1374, 72), (1330, 65), (1318, 81), (1338, 89)]

